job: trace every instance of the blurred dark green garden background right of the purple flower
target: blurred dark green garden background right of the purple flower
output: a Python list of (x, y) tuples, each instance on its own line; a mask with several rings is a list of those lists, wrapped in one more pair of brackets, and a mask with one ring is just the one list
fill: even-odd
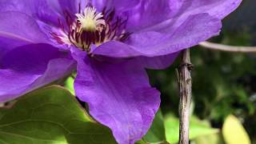
[[(222, 33), (210, 42), (256, 46), (256, 1), (242, 6), (223, 21)], [(256, 144), (256, 54), (191, 49), (194, 64), (191, 143)], [(175, 69), (149, 70), (151, 83), (162, 91), (166, 137), (178, 142), (178, 83)]]

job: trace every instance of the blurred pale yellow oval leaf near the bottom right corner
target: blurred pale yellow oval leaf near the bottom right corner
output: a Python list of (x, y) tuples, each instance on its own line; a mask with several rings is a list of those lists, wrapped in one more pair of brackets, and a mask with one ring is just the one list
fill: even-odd
[(250, 144), (250, 138), (246, 133), (246, 130), (234, 115), (230, 115), (226, 118), (222, 127), (222, 134), (226, 143)]

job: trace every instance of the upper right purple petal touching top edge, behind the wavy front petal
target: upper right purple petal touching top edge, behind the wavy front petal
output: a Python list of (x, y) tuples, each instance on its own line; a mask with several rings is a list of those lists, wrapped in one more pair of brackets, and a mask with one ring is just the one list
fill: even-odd
[(134, 31), (154, 30), (169, 33), (194, 14), (207, 13), (221, 20), (234, 11), (242, 0), (141, 0), (140, 4), (126, 14), (128, 29)]

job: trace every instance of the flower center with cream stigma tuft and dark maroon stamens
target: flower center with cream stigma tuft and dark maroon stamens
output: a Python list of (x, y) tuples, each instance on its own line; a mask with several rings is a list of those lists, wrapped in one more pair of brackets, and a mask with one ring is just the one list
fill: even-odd
[[(79, 6), (81, 7), (81, 6)], [(125, 41), (130, 33), (126, 32), (127, 19), (115, 15), (114, 10), (104, 9), (97, 12), (93, 6), (75, 14), (75, 18), (65, 13), (66, 22), (59, 20), (60, 28), (51, 32), (51, 36), (61, 45), (76, 46), (90, 53), (92, 45), (99, 46), (111, 40)]]

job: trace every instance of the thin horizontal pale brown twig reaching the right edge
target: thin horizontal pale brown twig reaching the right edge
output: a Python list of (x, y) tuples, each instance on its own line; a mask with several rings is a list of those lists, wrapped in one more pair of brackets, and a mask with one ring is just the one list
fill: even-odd
[(230, 51), (237, 53), (256, 53), (256, 46), (227, 46), (213, 42), (200, 42), (199, 46), (210, 50)]

